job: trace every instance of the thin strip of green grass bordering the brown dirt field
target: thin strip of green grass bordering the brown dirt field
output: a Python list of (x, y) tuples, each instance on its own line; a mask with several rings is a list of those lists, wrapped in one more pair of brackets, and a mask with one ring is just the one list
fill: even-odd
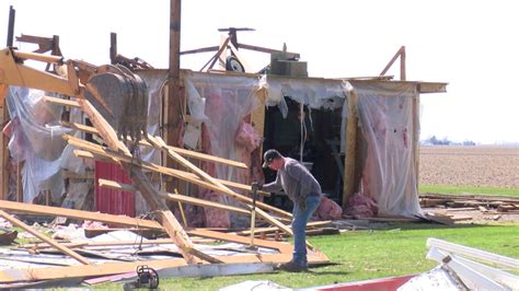
[(471, 194), (471, 195), (492, 195), (492, 196), (519, 196), (519, 188), (495, 188), (495, 187), (474, 187), (474, 186), (452, 186), (452, 185), (419, 185), (420, 194)]

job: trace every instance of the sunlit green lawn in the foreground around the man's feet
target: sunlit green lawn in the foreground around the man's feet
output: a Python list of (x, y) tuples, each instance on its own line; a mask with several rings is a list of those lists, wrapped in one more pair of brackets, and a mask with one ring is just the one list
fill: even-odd
[[(289, 288), (304, 288), (334, 282), (419, 273), (437, 266), (425, 258), (427, 237), (476, 247), (519, 258), (519, 224), (438, 225), (426, 223), (389, 224), (385, 230), (355, 231), (341, 235), (311, 237), (310, 242), (333, 263), (310, 272), (277, 272), (266, 275), (217, 278), (161, 279), (168, 290), (217, 290), (246, 280), (270, 280)], [(492, 237), (492, 238), (489, 238)], [(120, 289), (120, 284), (95, 288)]]

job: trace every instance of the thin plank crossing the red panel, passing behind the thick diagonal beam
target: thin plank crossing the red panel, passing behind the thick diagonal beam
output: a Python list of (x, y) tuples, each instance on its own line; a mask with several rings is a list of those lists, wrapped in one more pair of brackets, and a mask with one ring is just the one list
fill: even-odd
[[(114, 181), (108, 181), (108, 179), (99, 179), (99, 184), (101, 187), (108, 187), (113, 189), (119, 189), (124, 191), (131, 191), (135, 193), (137, 189), (128, 184), (123, 184)], [(183, 203), (188, 203), (188, 205), (195, 205), (195, 206), (201, 206), (201, 207), (210, 207), (210, 208), (216, 208), (216, 209), (221, 209), (226, 211), (231, 211), (231, 212), (237, 212), (245, 216), (250, 216), (251, 211), (241, 209), (238, 207), (232, 207), (232, 206), (227, 206), (214, 201), (208, 201), (204, 199), (198, 199), (195, 197), (189, 197), (185, 195), (180, 195), (180, 194), (171, 194), (171, 193), (165, 193), (165, 191), (160, 191), (161, 196), (164, 196), (166, 199), (172, 200), (172, 201), (178, 201)]]

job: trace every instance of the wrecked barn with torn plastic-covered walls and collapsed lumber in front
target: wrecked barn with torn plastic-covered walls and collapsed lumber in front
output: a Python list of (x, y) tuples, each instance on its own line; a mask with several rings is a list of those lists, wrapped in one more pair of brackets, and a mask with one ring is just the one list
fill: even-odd
[[(291, 245), (255, 238), (255, 231), (263, 232), (256, 226), (272, 226), (263, 233), (274, 229), (277, 238), (279, 233), (292, 235), (290, 206), (282, 194), (250, 186), (272, 179), (272, 173), (261, 167), (267, 148), (300, 160), (323, 185), (327, 198), (318, 210), (320, 219), (339, 218), (343, 210), (354, 217), (422, 216), (419, 95), (445, 92), (445, 83), (410, 82), (405, 73), (404, 80), (394, 81), (384, 75), (388, 68), (373, 78), (308, 78), (298, 60), (279, 59), (289, 55), (286, 51), (273, 51), (269, 70), (250, 73), (237, 69), (244, 60), (230, 38), (217, 49), (207, 71), (178, 70), (173, 80), (172, 70), (125, 58), (114, 44), (113, 65), (96, 67), (66, 60), (56, 37), (19, 40), (47, 44), (44, 47), (54, 54), (8, 47), (0, 56), (5, 124), (0, 216), (72, 261), (51, 273), (37, 268), (0, 271), (1, 282), (51, 280), (62, 273), (106, 276), (143, 264), (94, 267), (97, 263), (72, 249), (82, 246), (49, 240), (14, 213), (59, 214), (165, 233), (181, 258), (145, 261), (150, 267), (289, 260)], [(228, 47), (235, 59), (223, 58), (231, 63), (227, 71), (214, 70)], [(403, 49), (389, 66), (397, 56), (404, 58)], [(46, 70), (25, 63), (31, 60), (43, 61)], [(109, 103), (106, 96), (120, 101), (120, 94), (103, 88), (96, 79), (101, 74), (124, 80), (116, 83), (131, 92), (124, 103)], [(131, 89), (125, 86), (128, 80)], [(135, 115), (127, 115), (127, 104)], [(257, 225), (251, 223), (254, 214), (260, 218)], [(242, 231), (230, 234), (199, 228)], [(194, 244), (200, 237), (275, 253), (208, 254)], [(308, 247), (309, 263), (328, 261), (319, 249)]]

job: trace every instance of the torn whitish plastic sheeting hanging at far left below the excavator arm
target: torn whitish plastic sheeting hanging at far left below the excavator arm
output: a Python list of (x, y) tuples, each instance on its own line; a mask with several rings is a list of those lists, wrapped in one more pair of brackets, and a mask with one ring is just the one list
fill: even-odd
[(25, 88), (9, 88), (7, 98), (12, 123), (9, 141), (11, 156), (24, 162), (22, 168), (23, 199), (32, 202), (42, 190), (50, 190), (53, 200), (65, 191), (61, 177), (64, 133), (71, 129), (58, 125), (61, 106), (43, 101), (44, 92)]

